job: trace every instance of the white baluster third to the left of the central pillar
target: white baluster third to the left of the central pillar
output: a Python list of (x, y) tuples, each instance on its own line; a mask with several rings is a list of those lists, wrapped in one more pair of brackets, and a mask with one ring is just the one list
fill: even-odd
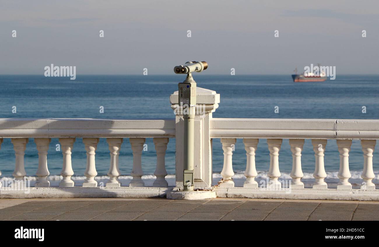
[(106, 138), (106, 142), (109, 146), (111, 155), (111, 164), (108, 171), (109, 181), (106, 183), (106, 187), (120, 187), (121, 182), (118, 177), (121, 175), (118, 158), (120, 154), (122, 138)]

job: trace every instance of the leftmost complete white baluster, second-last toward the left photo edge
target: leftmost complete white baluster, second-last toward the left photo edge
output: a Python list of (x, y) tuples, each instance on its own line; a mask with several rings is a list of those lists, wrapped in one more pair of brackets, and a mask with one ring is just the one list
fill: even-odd
[(16, 154), (16, 164), (13, 172), (14, 180), (23, 180), (26, 176), (24, 166), (24, 155), (28, 138), (12, 138), (14, 153)]

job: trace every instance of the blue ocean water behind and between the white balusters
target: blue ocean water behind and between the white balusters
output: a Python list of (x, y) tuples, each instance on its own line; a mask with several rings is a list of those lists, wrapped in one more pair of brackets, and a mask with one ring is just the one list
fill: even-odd
[[(214, 118), (333, 118), (379, 119), (379, 76), (337, 76), (326, 82), (294, 83), (290, 75), (207, 75), (194, 74), (198, 87), (221, 94)], [(174, 118), (169, 96), (177, 90), (184, 76), (0, 76), (1, 118), (104, 118), (104, 119), (160, 119)], [(12, 113), (16, 106), (17, 113)], [(104, 107), (104, 113), (99, 107)], [(274, 107), (279, 113), (274, 113)], [(362, 113), (362, 106), (366, 113)], [(55, 150), (58, 139), (52, 139), (48, 154), (50, 180), (60, 180), (62, 153)], [(147, 138), (148, 150), (143, 152), (143, 177), (147, 185), (154, 180), (156, 164), (152, 138)], [(241, 139), (233, 153), (233, 169), (237, 185), (244, 180), (246, 154)], [(98, 181), (106, 181), (109, 169), (109, 150), (106, 140), (100, 139), (96, 151)], [(379, 182), (379, 154), (374, 152), (374, 172)], [(328, 140), (325, 151), (326, 181), (337, 182), (339, 155), (335, 140)], [(256, 152), (257, 180), (266, 179), (269, 168), (269, 151), (265, 139), (260, 139)], [(14, 170), (14, 151), (10, 139), (5, 138), (0, 150), (0, 170), (3, 178), (11, 178)], [(130, 181), (133, 157), (128, 138), (124, 138), (119, 158), (121, 180)], [(213, 140), (214, 181), (221, 176), (223, 154), (219, 139)], [(360, 184), (363, 155), (359, 140), (353, 140), (350, 171), (354, 184)], [(33, 138), (25, 151), (25, 170), (32, 181), (38, 167), (38, 154)], [(86, 151), (81, 138), (77, 138), (72, 151), (74, 180), (81, 184), (86, 167)], [(288, 139), (283, 140), (279, 155), (281, 179), (290, 179), (292, 157)], [(302, 152), (303, 181), (312, 184), (315, 161), (310, 140), (305, 140)], [(174, 185), (175, 139), (171, 138), (166, 153), (168, 181)]]

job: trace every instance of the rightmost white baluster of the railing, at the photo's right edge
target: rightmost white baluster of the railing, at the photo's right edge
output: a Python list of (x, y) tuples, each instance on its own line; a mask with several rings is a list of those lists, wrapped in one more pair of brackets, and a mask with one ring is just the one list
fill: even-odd
[(375, 178), (373, 171), (373, 153), (375, 150), (376, 140), (360, 140), (363, 151), (363, 172), (361, 178), (363, 178), (363, 184), (361, 189), (374, 190), (375, 184), (372, 180)]

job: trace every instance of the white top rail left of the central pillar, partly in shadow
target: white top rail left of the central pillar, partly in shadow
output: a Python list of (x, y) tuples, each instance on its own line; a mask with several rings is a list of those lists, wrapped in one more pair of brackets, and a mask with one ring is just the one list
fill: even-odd
[(175, 137), (175, 120), (0, 118), (0, 138)]

